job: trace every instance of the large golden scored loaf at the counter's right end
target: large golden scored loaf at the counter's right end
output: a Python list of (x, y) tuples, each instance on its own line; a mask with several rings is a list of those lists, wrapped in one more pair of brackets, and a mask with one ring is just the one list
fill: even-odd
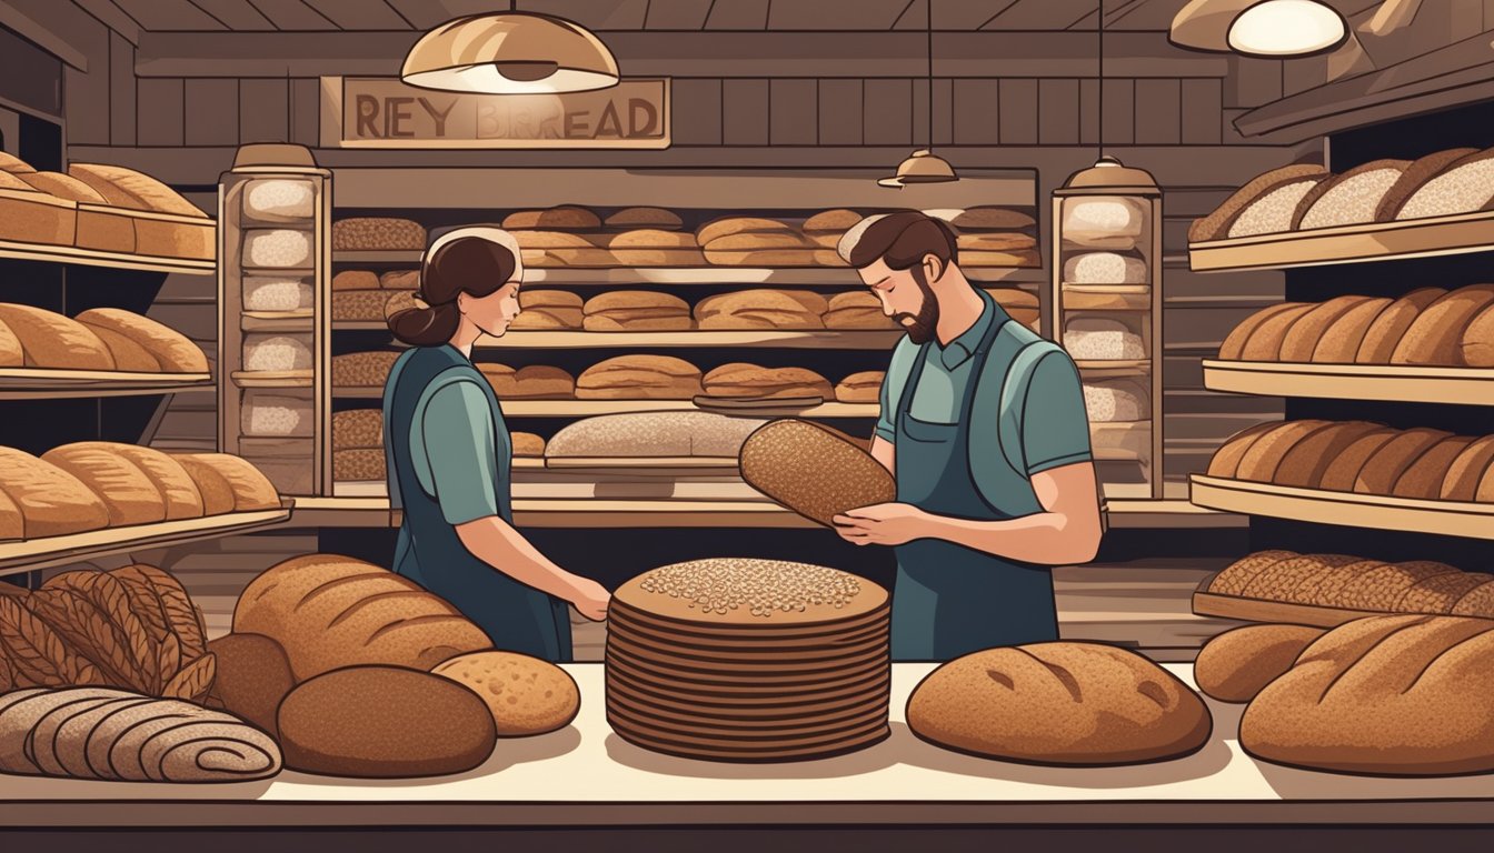
[(1494, 623), (1383, 615), (1309, 645), (1240, 719), (1252, 756), (1370, 775), (1494, 771)]

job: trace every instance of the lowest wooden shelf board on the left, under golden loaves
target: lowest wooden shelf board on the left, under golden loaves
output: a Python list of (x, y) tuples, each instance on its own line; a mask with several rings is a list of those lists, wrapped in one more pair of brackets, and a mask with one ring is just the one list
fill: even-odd
[(218, 539), (272, 527), (288, 521), (290, 517), (291, 509), (287, 505), (279, 509), (266, 509), (261, 512), (230, 512), (206, 518), (182, 518), (157, 524), (108, 527), (67, 536), (0, 542), (0, 575), (63, 566), (112, 554), (128, 554), (142, 548)]

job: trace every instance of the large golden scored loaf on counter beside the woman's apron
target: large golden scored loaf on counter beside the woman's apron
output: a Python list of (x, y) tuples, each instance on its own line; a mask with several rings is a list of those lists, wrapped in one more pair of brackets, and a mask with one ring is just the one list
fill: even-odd
[(429, 671), (448, 657), (492, 648), (480, 627), (420, 584), (336, 554), (266, 569), (239, 596), (233, 630), (279, 642), (297, 683), (357, 665)]

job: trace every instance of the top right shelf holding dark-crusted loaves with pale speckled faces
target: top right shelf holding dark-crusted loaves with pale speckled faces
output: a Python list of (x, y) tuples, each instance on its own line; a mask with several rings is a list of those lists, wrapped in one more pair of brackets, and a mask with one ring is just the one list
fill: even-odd
[(1491, 163), (1494, 149), (1454, 148), (1337, 175), (1273, 169), (1192, 224), (1189, 263), (1221, 272), (1491, 251)]

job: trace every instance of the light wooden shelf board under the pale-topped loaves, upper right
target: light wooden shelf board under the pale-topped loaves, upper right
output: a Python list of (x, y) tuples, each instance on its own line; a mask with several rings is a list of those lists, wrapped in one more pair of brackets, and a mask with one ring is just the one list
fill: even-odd
[(1189, 244), (1194, 272), (1289, 269), (1494, 251), (1494, 211)]

